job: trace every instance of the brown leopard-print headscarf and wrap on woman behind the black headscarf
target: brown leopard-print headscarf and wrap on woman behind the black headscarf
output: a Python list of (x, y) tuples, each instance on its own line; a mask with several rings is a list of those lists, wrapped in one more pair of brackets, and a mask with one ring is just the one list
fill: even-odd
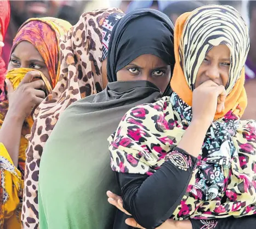
[(24, 228), (39, 228), (38, 176), (45, 142), (64, 110), (73, 102), (103, 90), (101, 43), (104, 20), (117, 8), (98, 9), (82, 14), (79, 21), (60, 39), (60, 78), (52, 94), (37, 107), (28, 136), (25, 193), (22, 207)]

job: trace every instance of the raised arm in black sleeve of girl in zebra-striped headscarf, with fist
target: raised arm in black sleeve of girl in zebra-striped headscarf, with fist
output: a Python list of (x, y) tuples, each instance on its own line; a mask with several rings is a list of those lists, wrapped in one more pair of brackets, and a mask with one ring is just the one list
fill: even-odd
[[(218, 96), (221, 93), (225, 96), (225, 88), (215, 85), (212, 81), (201, 84), (194, 90), (192, 121), (178, 146), (170, 153), (169, 160), (163, 163), (155, 173), (151, 176), (139, 175), (135, 172), (118, 174), (124, 209), (132, 214), (141, 226), (149, 229), (160, 226), (172, 216), (173, 211), (180, 204), (191, 179), (196, 157), (201, 151), (207, 129), (213, 121), (215, 112), (222, 110), (219, 106), (223, 107), (223, 99), (220, 99), (222, 103), (218, 105)], [(120, 131), (126, 134), (126, 128), (122, 128), (120, 127)], [(134, 142), (136, 145), (136, 141)], [(118, 148), (117, 154), (126, 157), (129, 151), (124, 153), (123, 148)], [(174, 151), (176, 151), (175, 155)], [(177, 166), (177, 161), (182, 161), (184, 164), (189, 164), (186, 163), (189, 161), (191, 163), (189, 167), (186, 166), (186, 170), (182, 170)], [(136, 166), (143, 168), (144, 165)], [(135, 171), (133, 168), (130, 170)], [(123, 171), (126, 171), (126, 168)]]

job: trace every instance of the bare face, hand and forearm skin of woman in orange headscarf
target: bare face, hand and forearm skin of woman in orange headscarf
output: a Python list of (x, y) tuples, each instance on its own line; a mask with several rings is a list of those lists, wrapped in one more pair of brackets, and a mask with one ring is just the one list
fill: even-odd
[[(8, 71), (19, 67), (39, 70), (50, 81), (49, 72), (42, 56), (29, 42), (24, 41), (18, 44), (11, 55)], [(21, 130), (25, 118), (30, 116), (31, 112), (45, 98), (43, 91), (45, 85), (39, 77), (37, 71), (28, 72), (16, 90), (13, 89), (9, 79), (5, 79), (8, 87), (9, 109), (0, 129), (0, 142), (7, 149), (15, 167), (18, 165)]]

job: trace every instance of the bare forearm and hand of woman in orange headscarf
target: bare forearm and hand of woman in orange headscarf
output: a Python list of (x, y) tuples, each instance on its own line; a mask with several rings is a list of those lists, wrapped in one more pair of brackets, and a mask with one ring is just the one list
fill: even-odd
[(37, 90), (44, 87), (42, 80), (31, 82), (40, 76), (37, 71), (28, 72), (14, 91), (9, 79), (8, 86), (9, 108), (0, 129), (0, 142), (8, 151), (15, 167), (18, 166), (21, 129), (26, 117), (31, 114), (35, 105), (40, 104), (45, 97), (44, 91)]

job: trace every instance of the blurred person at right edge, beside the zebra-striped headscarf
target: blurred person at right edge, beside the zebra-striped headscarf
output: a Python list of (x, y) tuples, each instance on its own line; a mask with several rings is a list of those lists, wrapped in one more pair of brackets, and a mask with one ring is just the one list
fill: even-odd
[(243, 119), (256, 119), (256, 1), (248, 2), (251, 48), (246, 60), (246, 89), (248, 106)]

